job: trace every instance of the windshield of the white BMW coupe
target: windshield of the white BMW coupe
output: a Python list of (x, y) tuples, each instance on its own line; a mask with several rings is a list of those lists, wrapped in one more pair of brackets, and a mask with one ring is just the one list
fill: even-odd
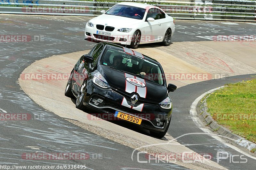
[(128, 6), (128, 5), (115, 5), (110, 8), (105, 14), (116, 15), (127, 18), (143, 19), (146, 9)]

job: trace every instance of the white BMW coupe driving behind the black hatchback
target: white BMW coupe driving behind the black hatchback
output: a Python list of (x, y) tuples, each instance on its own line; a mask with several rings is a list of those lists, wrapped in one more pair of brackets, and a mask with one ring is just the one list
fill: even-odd
[(130, 45), (162, 42), (171, 44), (174, 20), (160, 8), (141, 3), (122, 2), (89, 20), (85, 26), (85, 38)]

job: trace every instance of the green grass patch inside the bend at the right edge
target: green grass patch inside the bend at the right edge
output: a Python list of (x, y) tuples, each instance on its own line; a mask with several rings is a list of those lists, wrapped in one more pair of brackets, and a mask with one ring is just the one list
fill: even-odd
[(214, 120), (256, 143), (256, 80), (228, 84), (208, 96), (208, 112)]

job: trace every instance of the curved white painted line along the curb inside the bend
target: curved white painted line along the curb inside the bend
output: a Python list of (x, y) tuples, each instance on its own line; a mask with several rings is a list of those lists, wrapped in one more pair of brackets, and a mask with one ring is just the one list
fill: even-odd
[[(213, 91), (218, 90), (218, 89), (221, 89), (221, 88), (223, 88), (223, 87), (224, 87), (224, 86), (221, 86), (221, 87), (218, 87), (218, 88), (209, 90), (209, 91), (205, 92), (204, 94), (202, 94), (201, 96), (199, 96), (199, 97), (196, 98), (196, 100), (192, 103), (192, 105), (191, 105), (191, 107), (190, 107), (190, 111), (189, 111), (190, 115), (192, 116), (192, 120), (193, 120), (193, 122), (196, 124), (196, 126), (197, 126), (199, 129), (201, 129), (201, 130), (202, 130), (203, 132), (205, 132), (205, 133), (209, 133), (209, 134), (210, 134), (209, 136), (211, 136), (212, 138), (217, 139), (218, 141), (220, 141), (220, 142), (223, 143), (224, 145), (227, 145), (228, 147), (234, 149), (235, 151), (240, 152), (240, 153), (242, 153), (242, 154), (248, 156), (249, 158), (252, 158), (252, 159), (255, 159), (255, 160), (256, 160), (256, 157), (254, 157), (254, 156), (252, 156), (252, 155), (250, 155), (250, 154), (248, 154), (248, 153), (242, 151), (241, 149), (237, 148), (237, 147), (234, 146), (234, 145), (231, 145), (231, 144), (226, 143), (225, 140), (223, 140), (223, 139), (221, 139), (220, 137), (216, 136), (216, 135), (215, 135), (214, 133), (212, 133), (212, 131), (210, 131), (209, 129), (203, 128), (202, 125), (201, 125), (202, 122), (200, 121), (199, 117), (197, 117), (197, 113), (196, 113), (196, 105), (197, 105), (197, 103), (198, 103), (205, 95), (207, 95), (207, 94), (209, 94), (209, 93), (212, 93)], [(212, 134), (212, 135), (211, 135), (211, 134)]]

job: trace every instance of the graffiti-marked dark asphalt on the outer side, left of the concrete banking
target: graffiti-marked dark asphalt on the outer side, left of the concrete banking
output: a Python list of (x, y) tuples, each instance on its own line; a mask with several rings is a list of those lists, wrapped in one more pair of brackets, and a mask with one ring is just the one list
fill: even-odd
[[(0, 164), (86, 165), (86, 169), (159, 169), (159, 164), (141, 164), (132, 161), (132, 148), (85, 131), (42, 109), (20, 89), (17, 84), (20, 73), (35, 60), (54, 54), (91, 49), (96, 44), (84, 40), (83, 20), (70, 17), (71, 19), (65, 19), (65, 22), (45, 18), (0, 16), (0, 34), (31, 37), (45, 35), (44, 41), (39, 42), (0, 42), (0, 108), (2, 109), (0, 111), (28, 113), (34, 119), (0, 121)], [(64, 37), (60, 36), (60, 32)], [(28, 160), (28, 157), (22, 157), (26, 153), (35, 152), (86, 153), (89, 154), (89, 158), (82, 156), (88, 159)], [(141, 156), (140, 159), (147, 160), (145, 156)], [(170, 169), (186, 169), (171, 163), (164, 166)]]

